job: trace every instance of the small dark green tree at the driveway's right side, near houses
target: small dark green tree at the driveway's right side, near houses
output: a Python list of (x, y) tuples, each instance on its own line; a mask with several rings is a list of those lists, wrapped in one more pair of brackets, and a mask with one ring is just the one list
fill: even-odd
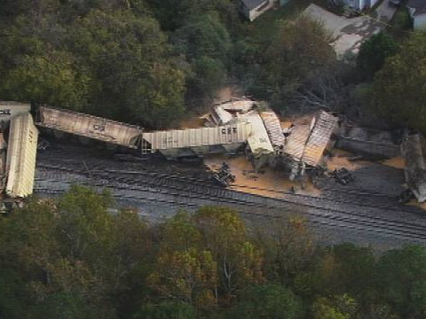
[(390, 35), (380, 32), (361, 44), (357, 57), (359, 72), (367, 79), (382, 69), (384, 61), (397, 53), (398, 45)]

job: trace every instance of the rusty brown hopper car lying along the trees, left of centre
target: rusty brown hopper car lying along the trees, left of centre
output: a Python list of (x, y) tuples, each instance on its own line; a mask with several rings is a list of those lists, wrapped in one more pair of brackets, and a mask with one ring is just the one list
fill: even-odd
[(40, 107), (39, 114), (37, 125), (135, 149), (142, 133), (130, 124), (51, 107)]

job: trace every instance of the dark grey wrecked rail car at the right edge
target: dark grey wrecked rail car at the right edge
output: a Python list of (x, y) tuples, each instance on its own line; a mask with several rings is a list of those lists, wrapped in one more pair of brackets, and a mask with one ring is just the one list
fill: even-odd
[(406, 161), (406, 184), (419, 202), (426, 201), (426, 140), (420, 134), (405, 136), (401, 153)]

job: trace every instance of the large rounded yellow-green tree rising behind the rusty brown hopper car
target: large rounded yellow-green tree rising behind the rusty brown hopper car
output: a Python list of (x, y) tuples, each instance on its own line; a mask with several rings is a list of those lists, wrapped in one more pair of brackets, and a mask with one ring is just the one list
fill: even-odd
[(154, 19), (128, 11), (92, 11), (72, 25), (67, 41), (90, 66), (93, 112), (166, 127), (184, 111), (185, 77), (170, 58)]

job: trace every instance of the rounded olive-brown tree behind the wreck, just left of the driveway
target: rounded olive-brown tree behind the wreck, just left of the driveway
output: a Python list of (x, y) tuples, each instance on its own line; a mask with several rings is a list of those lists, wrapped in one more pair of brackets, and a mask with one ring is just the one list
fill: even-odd
[(304, 82), (325, 74), (335, 64), (330, 41), (331, 36), (318, 21), (306, 17), (283, 21), (270, 43), (256, 49), (261, 64), (251, 66), (250, 91), (282, 109), (283, 101)]

